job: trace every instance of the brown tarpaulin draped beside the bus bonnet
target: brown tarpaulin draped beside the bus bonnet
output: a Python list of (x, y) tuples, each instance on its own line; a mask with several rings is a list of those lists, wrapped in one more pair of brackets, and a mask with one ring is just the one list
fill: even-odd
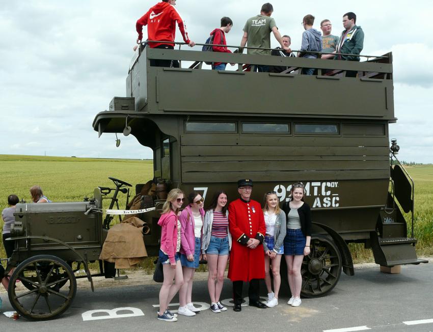
[(110, 228), (99, 259), (115, 263), (115, 268), (130, 268), (147, 257), (143, 239), (147, 224), (137, 217)]

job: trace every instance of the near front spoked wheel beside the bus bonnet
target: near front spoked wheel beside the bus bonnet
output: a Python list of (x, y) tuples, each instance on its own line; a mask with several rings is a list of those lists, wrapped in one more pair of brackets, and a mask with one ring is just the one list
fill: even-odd
[[(27, 289), (22, 289), (16, 283), (17, 279)], [(67, 287), (60, 289), (62, 286)], [(9, 301), (25, 318), (51, 319), (69, 308), (76, 288), (74, 273), (63, 259), (38, 255), (24, 260), (15, 268), (9, 280)]]

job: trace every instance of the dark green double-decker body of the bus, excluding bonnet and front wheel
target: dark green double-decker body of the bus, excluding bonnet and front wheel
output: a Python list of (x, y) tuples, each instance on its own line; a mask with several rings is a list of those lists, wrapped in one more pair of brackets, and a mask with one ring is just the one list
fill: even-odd
[[(397, 152), (395, 141), (390, 150), (388, 131), (397, 120), (392, 54), (362, 58), (329, 61), (142, 45), (128, 71), (126, 97), (115, 97), (110, 110), (96, 115), (93, 128), (99, 135), (131, 133), (150, 147), (153, 181), (168, 190), (196, 190), (205, 199), (225, 190), (234, 200), (236, 180), (251, 178), (253, 199), (262, 202), (265, 192), (275, 190), (284, 202), (291, 184), (303, 182), (314, 227), (302, 294), (322, 296), (341, 271), (354, 274), (348, 243), (371, 248), (381, 266), (424, 262), (415, 252), (413, 183), (400, 165), (390, 163)], [(180, 68), (151, 67), (151, 59), (177, 60)], [(209, 70), (206, 62), (234, 63), (237, 70)], [(246, 71), (245, 64), (287, 70), (257, 73)], [(315, 73), (303, 75), (302, 68)], [(347, 75), (354, 72), (357, 77)], [(143, 215), (150, 226), (149, 255), (159, 248), (156, 222), (163, 201), (153, 197), (156, 210)]]

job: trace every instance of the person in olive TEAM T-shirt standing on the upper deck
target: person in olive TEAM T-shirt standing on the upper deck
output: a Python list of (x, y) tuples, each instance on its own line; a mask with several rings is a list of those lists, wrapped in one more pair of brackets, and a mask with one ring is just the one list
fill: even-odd
[[(290, 53), (291, 49), (285, 46), (280, 32), (278, 31), (275, 20), (270, 17), (274, 12), (274, 7), (266, 3), (262, 6), (260, 14), (247, 20), (243, 27), (243, 37), (240, 41), (241, 48), (248, 47), (270, 48), (270, 33), (272, 32), (275, 39), (280, 43), (281, 48)], [(247, 50), (248, 54), (270, 55), (270, 50), (251, 49)], [(268, 72), (269, 66), (256, 65), (255, 70), (259, 72)]]

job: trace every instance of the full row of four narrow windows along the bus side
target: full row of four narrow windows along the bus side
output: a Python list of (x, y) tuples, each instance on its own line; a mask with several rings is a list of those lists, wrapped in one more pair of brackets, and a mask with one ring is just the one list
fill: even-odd
[[(242, 133), (291, 134), (290, 124), (241, 123)], [(186, 122), (186, 132), (237, 133), (235, 122)], [(294, 134), (338, 135), (338, 124), (294, 124)], [(385, 135), (383, 125), (342, 124), (343, 135)]]

